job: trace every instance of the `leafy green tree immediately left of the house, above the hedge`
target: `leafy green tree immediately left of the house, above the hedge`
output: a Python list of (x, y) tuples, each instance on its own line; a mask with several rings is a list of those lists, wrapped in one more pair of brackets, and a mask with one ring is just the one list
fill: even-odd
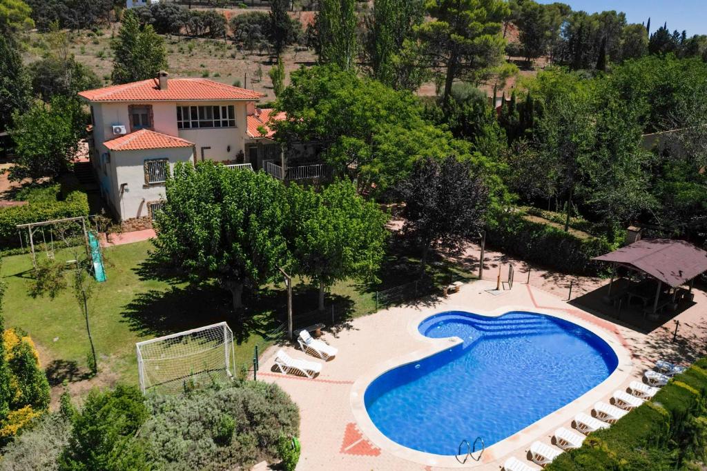
[(71, 167), (78, 141), (86, 135), (86, 113), (75, 98), (57, 96), (13, 114), (10, 135), (17, 159), (10, 179), (57, 177)]

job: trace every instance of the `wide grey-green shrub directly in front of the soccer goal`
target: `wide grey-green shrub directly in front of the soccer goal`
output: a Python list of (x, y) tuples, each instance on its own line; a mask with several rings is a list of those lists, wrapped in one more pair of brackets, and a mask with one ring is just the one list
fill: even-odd
[[(278, 386), (236, 383), (189, 395), (156, 395), (148, 400), (152, 417), (141, 435), (148, 437), (155, 467), (233, 469), (278, 456), (281, 434), (296, 435), (297, 406)], [(230, 422), (230, 446), (219, 446)], [(219, 424), (223, 427), (214, 427)], [(223, 442), (222, 442), (223, 443)], [(178, 464), (178, 466), (177, 466)]]

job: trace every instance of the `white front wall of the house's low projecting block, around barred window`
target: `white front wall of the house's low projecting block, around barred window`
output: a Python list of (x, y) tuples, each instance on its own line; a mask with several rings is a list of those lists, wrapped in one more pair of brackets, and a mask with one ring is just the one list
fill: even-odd
[[(149, 201), (165, 198), (165, 184), (145, 184), (144, 162), (148, 159), (168, 159), (170, 171), (175, 162), (193, 162), (192, 148), (173, 148), (155, 150), (127, 150), (111, 153), (111, 163), (115, 165), (115, 195), (117, 196), (116, 210), (121, 220), (132, 217), (147, 216)], [(124, 186), (122, 194), (120, 185)]]

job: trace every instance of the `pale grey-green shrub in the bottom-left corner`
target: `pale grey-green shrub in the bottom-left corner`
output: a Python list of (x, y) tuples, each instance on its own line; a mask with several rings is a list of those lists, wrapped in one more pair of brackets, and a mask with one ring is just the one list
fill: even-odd
[(70, 432), (69, 419), (45, 415), (5, 448), (0, 471), (58, 470), (57, 458), (69, 443)]

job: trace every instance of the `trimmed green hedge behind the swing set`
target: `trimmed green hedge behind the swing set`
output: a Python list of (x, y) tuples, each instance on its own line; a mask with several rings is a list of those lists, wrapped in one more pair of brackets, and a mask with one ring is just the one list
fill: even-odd
[(83, 191), (71, 191), (64, 201), (44, 201), (0, 209), (0, 240), (18, 245), (17, 225), (28, 222), (88, 216), (88, 196)]

